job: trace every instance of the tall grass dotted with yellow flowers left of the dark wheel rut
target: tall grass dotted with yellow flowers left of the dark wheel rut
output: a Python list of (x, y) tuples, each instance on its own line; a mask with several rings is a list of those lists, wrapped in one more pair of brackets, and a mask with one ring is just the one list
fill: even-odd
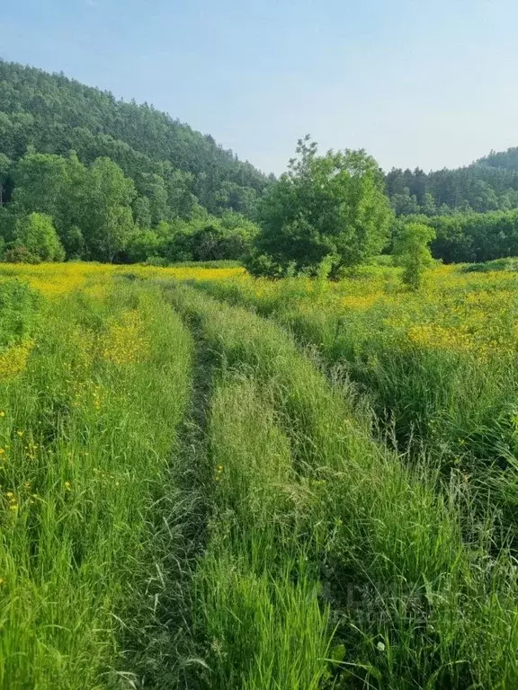
[[(192, 341), (153, 288), (103, 284), (43, 308), (0, 387), (0, 687), (119, 675), (146, 588), (152, 513), (189, 396)], [(125, 672), (125, 671), (124, 671)]]

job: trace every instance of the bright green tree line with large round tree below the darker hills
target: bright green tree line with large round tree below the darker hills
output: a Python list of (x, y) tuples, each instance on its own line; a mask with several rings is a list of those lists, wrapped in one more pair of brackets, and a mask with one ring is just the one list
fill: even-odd
[[(447, 263), (518, 255), (518, 209), (396, 217), (371, 156), (317, 155), (308, 137), (299, 141), (288, 173), (264, 193), (257, 224), (232, 209), (212, 216), (196, 201), (171, 217), (159, 185), (151, 199), (141, 197), (110, 158), (85, 165), (74, 152), (29, 153), (15, 164), (0, 154), (0, 197), (7, 196), (9, 203), (0, 204), (5, 261), (231, 259), (274, 278), (316, 274), (326, 260), (337, 276), (392, 252), (416, 225), (433, 230), (433, 257)], [(423, 229), (417, 234), (427, 236)]]

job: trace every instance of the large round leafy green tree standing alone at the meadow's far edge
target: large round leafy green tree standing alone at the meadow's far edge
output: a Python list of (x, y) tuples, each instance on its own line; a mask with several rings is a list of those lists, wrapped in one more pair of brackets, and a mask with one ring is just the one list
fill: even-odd
[(332, 274), (362, 263), (383, 249), (393, 218), (383, 173), (370, 155), (346, 150), (319, 156), (308, 136), (299, 140), (297, 157), (268, 190), (259, 214), (249, 267), (260, 273), (268, 265), (278, 274), (315, 273), (327, 256)]

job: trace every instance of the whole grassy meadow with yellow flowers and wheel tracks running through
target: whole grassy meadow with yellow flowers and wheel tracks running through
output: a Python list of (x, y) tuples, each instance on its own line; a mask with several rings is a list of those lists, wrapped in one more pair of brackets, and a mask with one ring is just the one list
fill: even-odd
[(0, 688), (517, 687), (516, 296), (0, 265)]

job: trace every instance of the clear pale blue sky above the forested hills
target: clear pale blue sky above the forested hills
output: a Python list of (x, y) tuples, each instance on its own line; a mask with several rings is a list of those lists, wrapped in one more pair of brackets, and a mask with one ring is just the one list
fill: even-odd
[(0, 57), (153, 103), (280, 173), (296, 140), (425, 170), (518, 146), (516, 0), (16, 0)]

